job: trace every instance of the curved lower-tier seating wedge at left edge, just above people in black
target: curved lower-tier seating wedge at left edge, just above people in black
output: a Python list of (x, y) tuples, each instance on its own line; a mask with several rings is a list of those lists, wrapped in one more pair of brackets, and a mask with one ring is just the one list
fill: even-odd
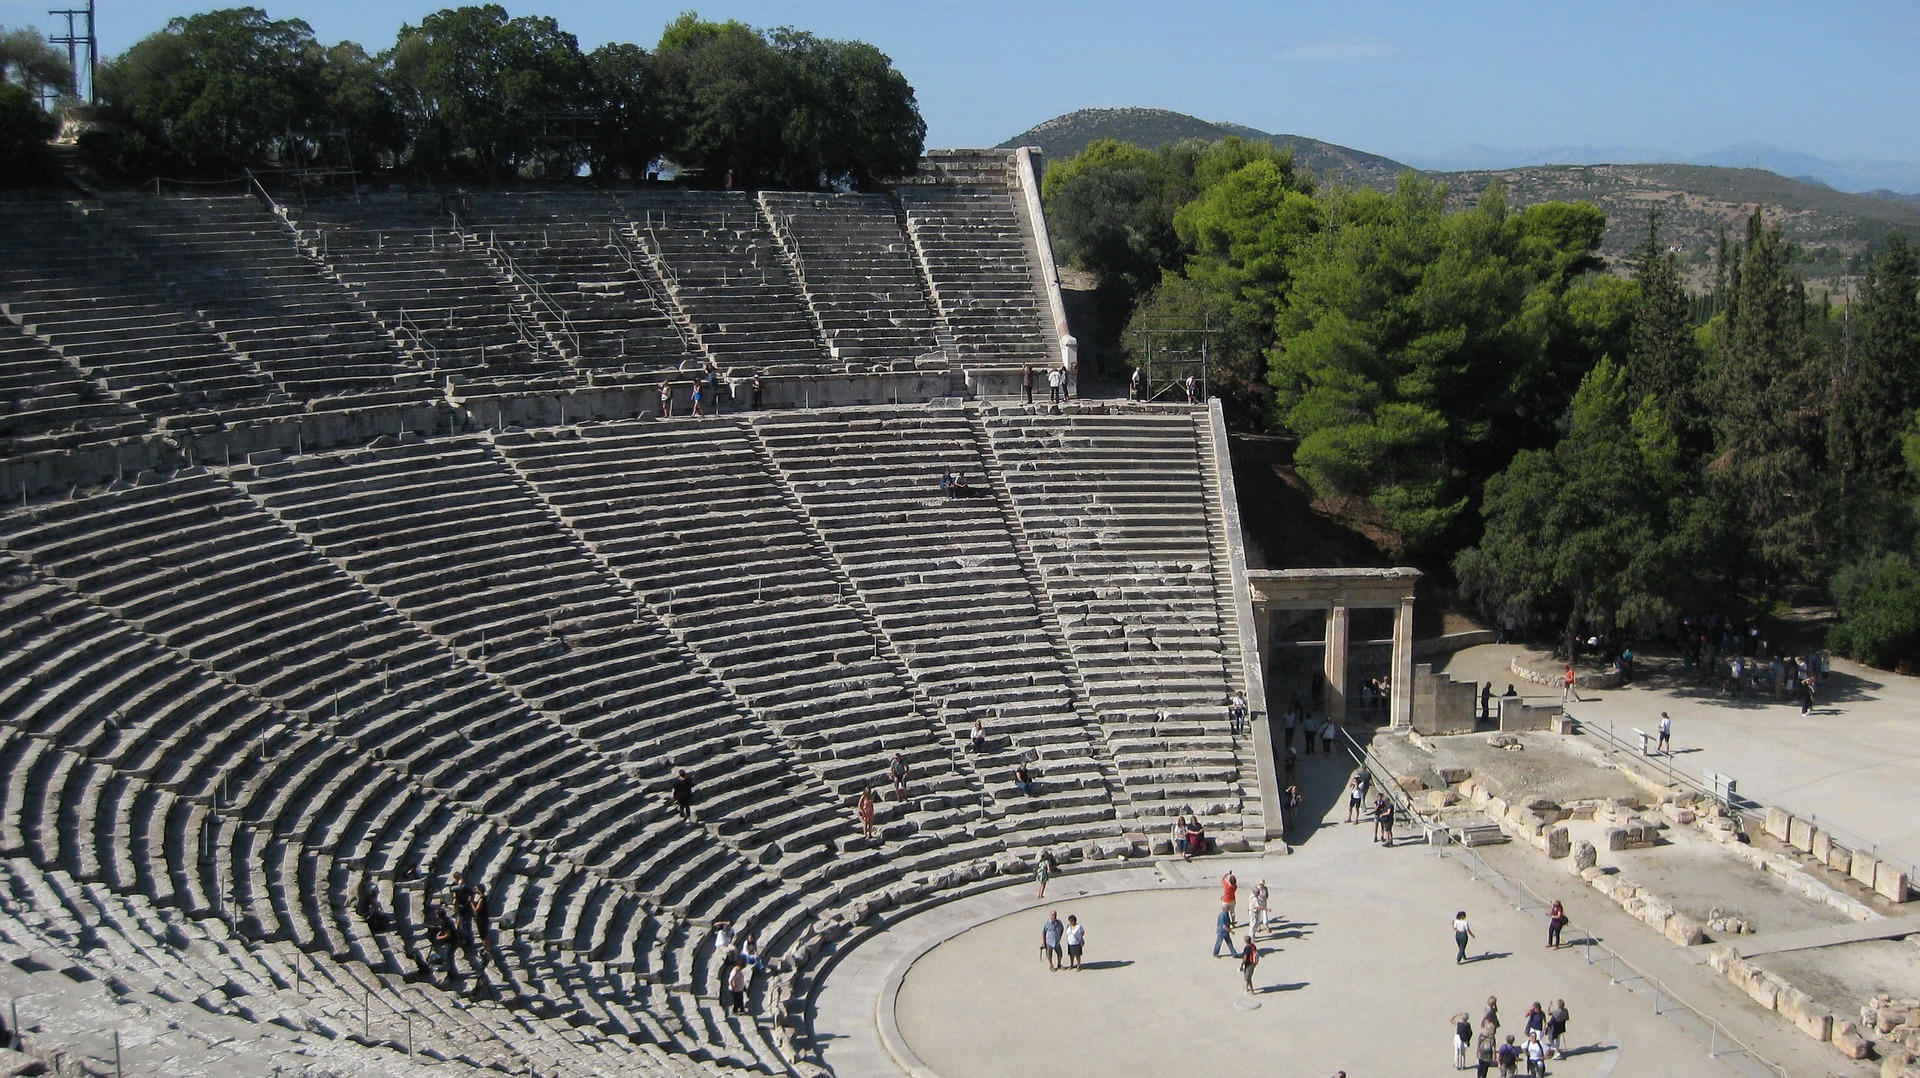
[[(21, 576), (13, 573), (15, 582)], [(10, 821), (0, 851), (152, 895), (190, 917), (221, 917), (257, 940), (407, 972), (426, 949), (422, 909), (396, 886), (397, 928), (372, 934), (351, 913), (359, 872), (349, 865), (378, 876), (444, 880), (468, 870), (511, 880), (495, 888), (499, 924), (582, 957), (651, 968), (657, 1003), (685, 1020), (662, 1026), (647, 1018), (643, 1001), (609, 992), (605, 974), (580, 968), (582, 957), (541, 957), (538, 947), (515, 953), (511, 968), (541, 982), (549, 1007), (584, 1011), (607, 995), (593, 1003), (601, 1011), (595, 1024), (607, 1032), (693, 1053), (720, 1045), (720, 1057), (745, 1063), (770, 1055), (747, 1043), (756, 1034), (707, 1015), (689, 997), (714, 984), (716, 955), (680, 913), (662, 922), (636, 899), (616, 897), (624, 890), (564, 861), (553, 874), (555, 859), (543, 845), (470, 813), (449, 813), (438, 794), (396, 784), (376, 757), (296, 717), (244, 703), (234, 688), (60, 586), (15, 588), (0, 605), (0, 638), (10, 644), (0, 699), (29, 705), (17, 724), (10, 715), (10, 740), (0, 746)], [(344, 819), (349, 826), (340, 826)], [(689, 878), (701, 882), (685, 888), (687, 895), (724, 890), (716, 884), (726, 876), (720, 861), (684, 861), (697, 867)], [(403, 865), (417, 872), (403, 874)], [(530, 869), (534, 874), (522, 878)], [(751, 901), (689, 897), (689, 905), (707, 911), (703, 922), (766, 915)]]

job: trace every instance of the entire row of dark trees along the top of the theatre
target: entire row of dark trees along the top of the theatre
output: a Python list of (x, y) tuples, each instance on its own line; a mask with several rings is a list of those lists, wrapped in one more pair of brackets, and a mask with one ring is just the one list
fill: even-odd
[(874, 46), (693, 13), (653, 52), (584, 54), (551, 17), (445, 8), (369, 54), (230, 8), (173, 19), (104, 63), (100, 96), (109, 127), (92, 144), (132, 173), (351, 159), (509, 181), (664, 165), (712, 184), (860, 186), (910, 173), (925, 138), (912, 86)]

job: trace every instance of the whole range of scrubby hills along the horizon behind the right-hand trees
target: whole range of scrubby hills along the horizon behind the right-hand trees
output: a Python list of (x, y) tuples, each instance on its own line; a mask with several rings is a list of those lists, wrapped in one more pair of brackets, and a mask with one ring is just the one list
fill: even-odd
[[(1039, 146), (1048, 158), (1060, 159), (1085, 150), (1094, 138), (1160, 146), (1177, 138), (1217, 140), (1227, 135), (1292, 146), (1298, 163), (1334, 183), (1390, 188), (1400, 173), (1411, 169), (1392, 158), (1304, 135), (1269, 135), (1238, 123), (1212, 123), (1146, 108), (1071, 111), (1023, 131), (1002, 146)], [(1473, 150), (1484, 156), (1473, 158), (1463, 152), (1457, 159), (1509, 159), (1501, 158), (1507, 154), (1501, 150), (1484, 146)], [(1580, 156), (1574, 152), (1603, 154), (1607, 148), (1546, 150), (1569, 150), (1569, 156)], [(1473, 202), (1496, 177), (1507, 184), (1507, 198), (1515, 206), (1553, 200), (1592, 202), (1607, 213), (1601, 256), (1615, 265), (1645, 242), (1647, 211), (1657, 208), (1661, 240), (1680, 252), (1682, 267), (1695, 284), (1709, 271), (1709, 252), (1720, 229), (1738, 234), (1755, 208), (1799, 244), (1797, 269), (1811, 282), (1830, 288), (1843, 288), (1841, 279), (1859, 273), (1857, 256), (1887, 233), (1901, 231), (1920, 238), (1920, 194), (1893, 190), (1847, 194), (1811, 169), (1811, 165), (1826, 167), (1826, 161), (1805, 156), (1776, 158), (1782, 167), (1793, 169), (1791, 177), (1799, 177), (1789, 179), (1740, 159), (1740, 154), (1753, 152), (1741, 146), (1728, 148), (1718, 154), (1728, 163), (1555, 163), (1446, 169), (1427, 175), (1446, 183), (1448, 198), (1455, 206)]]

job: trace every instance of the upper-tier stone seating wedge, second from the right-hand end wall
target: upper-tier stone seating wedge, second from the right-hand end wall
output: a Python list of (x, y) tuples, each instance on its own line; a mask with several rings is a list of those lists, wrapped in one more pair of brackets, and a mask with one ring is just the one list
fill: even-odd
[(835, 355), (912, 369), (939, 348), (937, 315), (893, 198), (762, 192), (760, 202)]

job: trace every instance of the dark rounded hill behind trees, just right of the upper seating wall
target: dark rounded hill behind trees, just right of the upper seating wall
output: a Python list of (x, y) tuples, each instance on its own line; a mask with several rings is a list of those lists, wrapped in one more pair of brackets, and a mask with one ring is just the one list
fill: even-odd
[(1002, 148), (1039, 146), (1052, 159), (1071, 158), (1098, 138), (1117, 138), (1135, 146), (1164, 146), (1181, 138), (1217, 142), (1229, 135), (1292, 146), (1294, 161), (1321, 177), (1340, 177), (1352, 184), (1392, 186), (1394, 177), (1407, 171), (1392, 158), (1336, 146), (1304, 135), (1269, 135), (1240, 123), (1212, 123), (1187, 113), (1160, 108), (1087, 108), (1056, 115), (1000, 142)]

